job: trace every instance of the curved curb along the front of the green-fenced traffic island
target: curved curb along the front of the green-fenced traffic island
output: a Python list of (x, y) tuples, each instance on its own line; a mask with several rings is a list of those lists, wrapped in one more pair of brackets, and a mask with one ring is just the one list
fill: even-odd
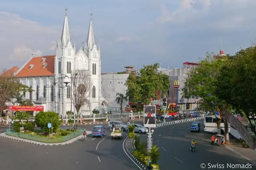
[[(91, 131), (86, 131), (87, 135), (90, 135), (92, 132)], [(81, 134), (82, 135), (82, 134)], [(34, 144), (34, 145), (43, 145), (43, 146), (57, 146), (57, 145), (67, 145), (70, 143), (73, 143), (75, 141), (77, 141), (78, 139), (81, 139), (81, 136), (77, 136), (75, 138), (72, 138), (68, 141), (62, 142), (62, 143), (43, 143), (43, 142), (37, 142), (37, 141), (32, 141), (29, 139), (22, 139), (19, 137), (12, 137), (9, 135), (6, 135), (6, 132), (4, 133), (0, 133), (0, 137), (6, 138), (6, 139), (12, 139), (14, 141), (20, 141), (20, 142), (25, 142), (25, 143), (30, 143), (30, 144)]]

